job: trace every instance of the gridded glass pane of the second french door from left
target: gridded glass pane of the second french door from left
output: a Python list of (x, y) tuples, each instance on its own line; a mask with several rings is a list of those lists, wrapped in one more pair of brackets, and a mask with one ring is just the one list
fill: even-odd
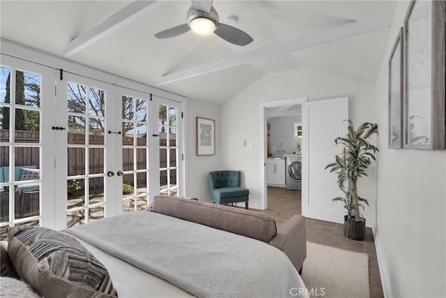
[(67, 84), (67, 227), (103, 218), (107, 91), (94, 82)]

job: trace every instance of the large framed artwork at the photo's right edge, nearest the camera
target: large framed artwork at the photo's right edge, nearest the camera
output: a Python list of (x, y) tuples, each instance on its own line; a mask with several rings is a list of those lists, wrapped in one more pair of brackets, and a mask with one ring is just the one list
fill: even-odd
[(413, 0), (404, 20), (404, 148), (445, 149), (445, 15), (445, 1)]

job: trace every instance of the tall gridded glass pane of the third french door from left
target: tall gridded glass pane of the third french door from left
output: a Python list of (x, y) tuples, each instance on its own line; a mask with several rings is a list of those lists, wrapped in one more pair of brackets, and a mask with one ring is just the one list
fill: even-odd
[(122, 100), (123, 212), (144, 210), (148, 204), (148, 100), (131, 90)]

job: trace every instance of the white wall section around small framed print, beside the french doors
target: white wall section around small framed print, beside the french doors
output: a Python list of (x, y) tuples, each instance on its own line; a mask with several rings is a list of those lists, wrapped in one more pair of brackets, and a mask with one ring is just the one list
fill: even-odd
[[(201, 201), (211, 202), (208, 172), (220, 170), (218, 158), (220, 150), (218, 147), (220, 135), (219, 108), (211, 103), (201, 100), (187, 100), (187, 154), (186, 154), (186, 196), (199, 198)], [(215, 155), (197, 156), (196, 153), (196, 117), (215, 119)]]

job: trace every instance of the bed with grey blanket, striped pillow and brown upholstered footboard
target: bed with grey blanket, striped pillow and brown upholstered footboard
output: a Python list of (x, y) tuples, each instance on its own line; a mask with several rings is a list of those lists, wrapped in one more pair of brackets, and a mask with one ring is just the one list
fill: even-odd
[[(305, 218), (303, 229), (304, 244), (297, 244), (296, 241), (302, 241), (302, 218), (294, 218), (294, 222), (276, 230), (275, 222), (264, 214), (158, 196), (151, 211), (112, 216), (61, 232), (47, 229), (44, 232), (49, 234), (31, 236), (29, 229), (17, 228), (13, 232), (22, 235), (22, 239), (8, 237), (8, 254), (20, 277), (45, 297), (69, 293), (75, 293), (72, 297), (295, 297), (306, 294), (298, 274), (303, 263), (300, 259), (306, 255), (306, 248), (302, 252)], [(57, 288), (54, 284), (59, 283), (60, 276), (47, 274), (40, 278), (42, 270), (30, 269), (29, 262), (20, 261), (22, 255), (42, 251), (44, 247), (33, 251), (29, 248), (32, 244), (26, 248), (24, 243), (30, 239), (51, 239), (59, 247), (54, 249), (59, 255), (55, 257), (53, 253), (52, 258), (46, 257), (49, 261), (44, 261), (37, 253), (31, 259), (37, 267), (59, 262), (63, 264), (57, 267), (60, 270), (70, 263), (60, 253), (65, 238), (86, 251), (84, 255), (70, 250), (77, 244), (69, 242), (66, 255), (75, 255), (73, 259), (82, 262), (87, 256), (90, 259), (82, 264), (97, 266), (89, 269), (89, 274), (105, 275), (86, 281), (89, 274), (84, 271), (85, 266), (75, 265), (82, 268), (80, 273)], [(295, 242), (294, 248), (290, 248), (291, 242)], [(295, 251), (300, 251), (300, 255), (295, 255)], [(20, 271), (29, 276), (22, 276)], [(94, 291), (85, 283), (91, 283)]]

